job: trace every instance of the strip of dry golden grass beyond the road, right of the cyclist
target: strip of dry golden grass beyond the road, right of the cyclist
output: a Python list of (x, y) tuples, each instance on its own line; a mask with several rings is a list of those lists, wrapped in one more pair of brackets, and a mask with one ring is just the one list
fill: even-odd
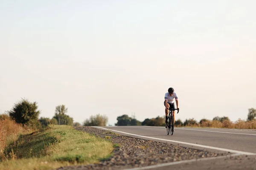
[(229, 129), (256, 129), (256, 119), (252, 121), (244, 121), (238, 119), (236, 122), (230, 120), (224, 120), (223, 122), (217, 120), (207, 120), (201, 122), (201, 124), (189, 124), (186, 127), (212, 127), (212, 128), (229, 128)]

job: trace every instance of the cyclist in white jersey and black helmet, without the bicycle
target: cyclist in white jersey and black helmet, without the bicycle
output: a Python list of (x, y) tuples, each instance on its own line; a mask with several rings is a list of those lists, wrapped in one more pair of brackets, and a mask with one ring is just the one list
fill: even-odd
[[(175, 109), (174, 100), (176, 101), (177, 109), (178, 109), (178, 111), (179, 111), (180, 109), (179, 109), (178, 96), (177, 96), (177, 94), (174, 92), (174, 89), (173, 89), (173, 88), (169, 88), (169, 89), (168, 89), (168, 93), (166, 93), (166, 94), (164, 95), (164, 102), (163, 102), (163, 105), (166, 107), (166, 108), (165, 108), (166, 124), (168, 123), (168, 122), (167, 122), (168, 108), (171, 107), (171, 108)], [(173, 119), (174, 119), (174, 122), (175, 122), (175, 111), (172, 111), (172, 115), (173, 115)]]

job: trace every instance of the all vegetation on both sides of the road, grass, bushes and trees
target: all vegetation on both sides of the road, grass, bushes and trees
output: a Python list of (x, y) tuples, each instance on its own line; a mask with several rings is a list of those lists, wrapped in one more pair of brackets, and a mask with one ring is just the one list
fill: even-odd
[[(97, 163), (111, 156), (115, 147), (110, 136), (97, 138), (74, 129), (81, 126), (67, 115), (65, 105), (58, 105), (52, 118), (40, 117), (36, 102), (27, 99), (15, 103), (0, 114), (0, 170), (48, 170), (61, 166)], [(84, 126), (106, 126), (107, 116), (97, 114), (84, 120)], [(165, 117), (138, 121), (135, 116), (117, 117), (118, 126), (165, 126)], [(228, 117), (212, 120), (180, 119), (176, 127), (213, 127), (256, 129), (256, 109), (248, 109), (247, 120), (230, 121)]]

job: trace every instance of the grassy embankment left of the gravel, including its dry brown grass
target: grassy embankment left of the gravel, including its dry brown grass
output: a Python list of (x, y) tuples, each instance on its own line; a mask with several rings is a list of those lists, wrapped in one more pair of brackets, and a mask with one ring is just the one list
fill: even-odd
[(71, 126), (55, 125), (31, 133), (12, 120), (0, 119), (0, 170), (91, 164), (111, 156), (112, 150), (111, 142)]

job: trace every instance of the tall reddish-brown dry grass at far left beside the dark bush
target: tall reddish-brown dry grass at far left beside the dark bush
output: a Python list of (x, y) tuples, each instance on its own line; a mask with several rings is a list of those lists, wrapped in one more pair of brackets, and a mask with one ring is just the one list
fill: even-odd
[(4, 150), (8, 144), (17, 140), (24, 129), (6, 114), (0, 115), (0, 160), (5, 159)]

